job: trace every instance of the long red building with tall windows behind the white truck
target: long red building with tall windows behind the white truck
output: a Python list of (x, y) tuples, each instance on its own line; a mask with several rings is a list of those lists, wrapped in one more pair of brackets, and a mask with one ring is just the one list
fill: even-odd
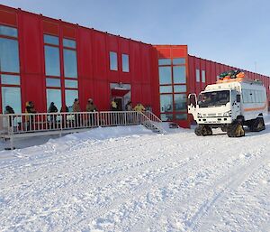
[[(188, 55), (186, 45), (151, 45), (0, 5), (0, 104), (24, 112), (33, 101), (47, 112), (79, 98), (99, 110), (141, 102), (163, 120), (189, 126), (186, 97), (199, 92), (228, 65)], [(248, 72), (267, 87), (269, 78)]]

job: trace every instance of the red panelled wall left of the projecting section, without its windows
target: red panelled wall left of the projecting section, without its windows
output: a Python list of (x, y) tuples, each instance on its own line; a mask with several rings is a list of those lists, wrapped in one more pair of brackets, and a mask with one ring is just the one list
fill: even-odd
[[(112, 97), (110, 83), (119, 83), (130, 84), (133, 105), (141, 102), (157, 113), (152, 95), (154, 75), (157, 75), (153, 67), (156, 53), (150, 44), (4, 5), (0, 5), (0, 24), (18, 29), (22, 111), (25, 102), (30, 100), (38, 112), (48, 110), (43, 35), (49, 34), (59, 38), (62, 105), (65, 104), (62, 39), (67, 38), (76, 41), (78, 97), (82, 110), (85, 110), (89, 97), (94, 99), (99, 110), (109, 110)], [(110, 51), (117, 52), (118, 70), (110, 70)], [(121, 70), (121, 54), (129, 55), (129, 72)]]

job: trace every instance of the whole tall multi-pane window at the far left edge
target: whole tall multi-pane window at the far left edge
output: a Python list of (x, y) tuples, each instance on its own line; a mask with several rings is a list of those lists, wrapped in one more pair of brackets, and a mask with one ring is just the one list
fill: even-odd
[(10, 106), (22, 113), (18, 32), (14, 27), (0, 25), (0, 84), (2, 112)]

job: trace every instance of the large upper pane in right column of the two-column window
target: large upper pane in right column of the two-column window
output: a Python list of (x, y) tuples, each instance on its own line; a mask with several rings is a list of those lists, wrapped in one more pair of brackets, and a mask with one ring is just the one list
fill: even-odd
[(66, 78), (77, 78), (76, 51), (64, 49), (64, 71)]

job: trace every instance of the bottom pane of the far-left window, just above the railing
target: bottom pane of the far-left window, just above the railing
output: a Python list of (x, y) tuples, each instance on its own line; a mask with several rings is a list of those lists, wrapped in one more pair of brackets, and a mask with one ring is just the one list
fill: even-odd
[(13, 107), (15, 114), (22, 113), (21, 88), (2, 87), (2, 112), (6, 106)]

